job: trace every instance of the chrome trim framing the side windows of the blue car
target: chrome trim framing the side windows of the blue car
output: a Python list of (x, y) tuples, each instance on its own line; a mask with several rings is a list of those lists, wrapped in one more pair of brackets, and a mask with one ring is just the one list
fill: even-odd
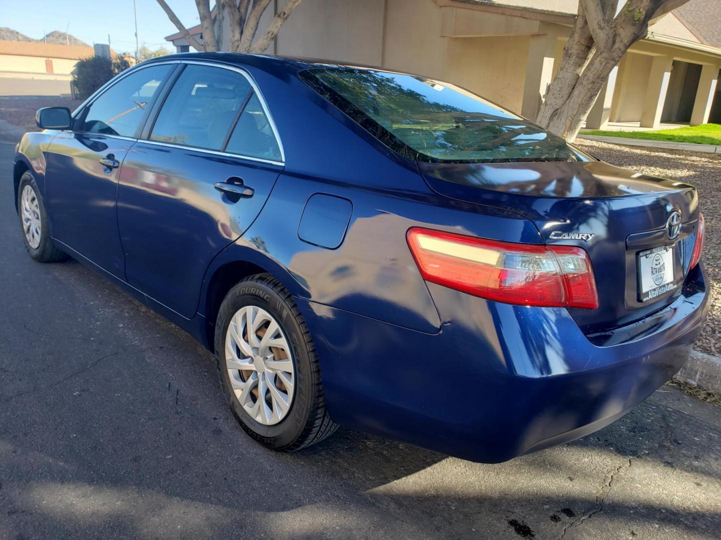
[[(151, 66), (161, 66), (163, 64), (180, 64), (180, 65), (189, 65), (189, 64), (195, 64), (198, 66), (210, 66), (213, 68), (221, 68), (221, 69), (227, 69), (229, 71), (235, 71), (236, 73), (239, 73), (240, 75), (244, 76), (246, 80), (248, 81), (248, 84), (250, 84), (253, 91), (255, 91), (255, 94), (258, 96), (258, 101), (260, 101), (260, 106), (263, 109), (263, 112), (265, 113), (265, 116), (268, 119), (268, 124), (270, 124), (270, 129), (273, 130), (273, 135), (275, 136), (275, 142), (278, 143), (278, 148), (280, 150), (280, 161), (273, 160), (273, 159), (265, 159), (265, 158), (257, 158), (254, 156), (246, 156), (242, 153), (229, 153), (229, 152), (220, 152), (218, 150), (209, 150), (208, 148), (198, 148), (195, 146), (187, 146), (187, 145), (180, 145), (176, 143), (161, 143), (156, 140), (150, 140), (150, 132), (152, 130), (152, 127), (155, 124), (155, 121), (158, 117), (158, 114), (160, 113), (160, 109), (162, 109), (162, 105), (160, 104), (159, 107), (155, 107), (156, 102), (159, 98), (163, 99), (163, 102), (165, 101), (165, 98), (167, 95), (172, 91), (174, 84), (177, 81), (177, 76), (180, 74), (180, 70), (173, 70), (171, 71), (168, 76), (164, 79), (162, 82), (161, 88), (157, 91), (156, 95), (153, 96), (153, 103), (151, 104), (151, 107), (149, 109), (149, 114), (147, 117), (141, 122), (141, 125), (139, 126), (139, 130), (136, 130), (137, 137), (125, 137), (123, 135), (105, 135), (103, 133), (94, 134), (94, 135), (102, 135), (103, 137), (111, 137), (111, 138), (117, 138), (117, 139), (123, 139), (123, 140), (139, 140), (143, 141), (143, 143), (151, 144), (151, 145), (159, 145), (159, 146), (166, 146), (169, 148), (182, 148), (185, 150), (193, 150), (194, 152), (203, 152), (212, 154), (213, 156), (224, 156), (229, 158), (241, 158), (241, 159), (247, 159), (249, 161), (256, 161), (258, 163), (269, 163), (270, 165), (278, 165), (278, 166), (285, 166), (286, 164), (286, 150), (283, 147), (283, 140), (280, 138), (280, 133), (278, 133), (278, 127), (275, 125), (275, 120), (273, 120), (273, 115), (270, 114), (270, 109), (267, 106), (267, 102), (265, 102), (265, 97), (263, 96), (262, 92), (260, 91), (260, 88), (258, 87), (257, 83), (255, 82), (255, 79), (252, 77), (252, 75), (244, 68), (240, 68), (238, 66), (231, 66), (229, 64), (214, 62), (212, 60), (160, 60), (156, 62), (148, 62), (145, 66), (141, 65), (137, 68), (132, 68), (126, 71), (125, 73), (121, 73), (117, 78), (112, 78), (110, 81), (107, 81), (103, 86), (101, 86), (99, 89), (97, 89), (92, 96), (90, 96), (88, 99), (86, 99), (84, 102), (80, 104), (80, 106), (75, 109), (75, 111), (72, 114), (73, 122), (79, 119), (81, 114), (85, 112), (87, 107), (91, 106), (93, 102), (99, 98), (102, 94), (105, 94), (105, 91), (107, 89), (110, 89), (111, 86), (115, 86), (119, 81), (121, 81), (123, 78), (130, 76), (131, 73), (136, 73), (136, 71), (140, 69), (149, 68)], [(234, 125), (232, 127), (235, 127)], [(146, 129), (148, 128), (148, 129)], [(76, 133), (88, 133), (83, 131), (75, 131)], [(232, 129), (229, 130), (229, 133), (226, 135), (229, 135), (232, 133)]]

